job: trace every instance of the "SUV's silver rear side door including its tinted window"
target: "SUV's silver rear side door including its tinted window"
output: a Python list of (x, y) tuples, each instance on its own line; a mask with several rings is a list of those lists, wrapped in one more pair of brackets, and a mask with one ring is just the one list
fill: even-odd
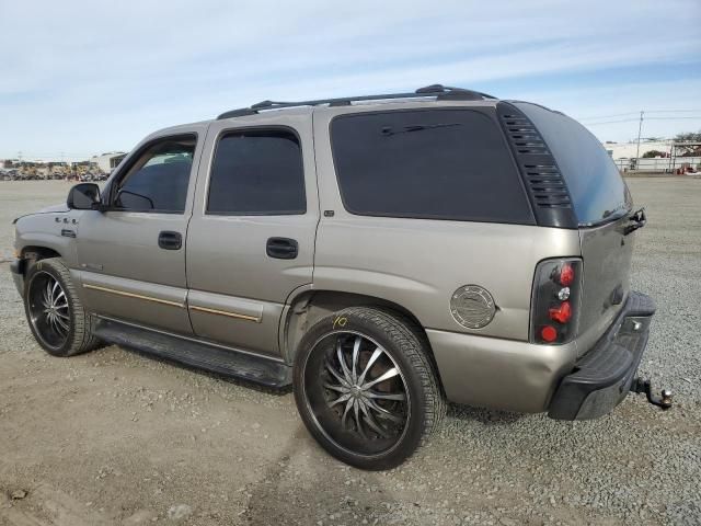
[(311, 284), (319, 221), (310, 113), (210, 125), (187, 233), (195, 334), (277, 355), (285, 302)]

